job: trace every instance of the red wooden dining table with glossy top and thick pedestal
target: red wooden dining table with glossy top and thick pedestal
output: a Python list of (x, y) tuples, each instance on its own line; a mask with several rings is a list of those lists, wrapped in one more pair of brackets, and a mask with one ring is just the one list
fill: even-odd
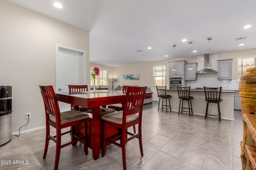
[[(101, 148), (101, 137), (102, 137), (102, 125), (100, 121), (100, 107), (107, 106), (111, 104), (124, 103), (126, 93), (122, 90), (96, 90), (88, 92), (56, 92), (58, 101), (71, 104), (73, 109), (78, 110), (79, 106), (92, 109), (92, 118), (90, 118), (89, 135), (90, 141), (89, 147), (92, 149), (92, 156), (94, 160), (99, 158), (100, 148)], [(78, 127), (79, 129), (84, 128), (84, 126)], [(81, 130), (82, 131), (82, 130)], [(116, 133), (115, 130), (111, 129)], [(117, 130), (116, 130), (117, 131)], [(79, 133), (79, 132), (77, 132)]]

